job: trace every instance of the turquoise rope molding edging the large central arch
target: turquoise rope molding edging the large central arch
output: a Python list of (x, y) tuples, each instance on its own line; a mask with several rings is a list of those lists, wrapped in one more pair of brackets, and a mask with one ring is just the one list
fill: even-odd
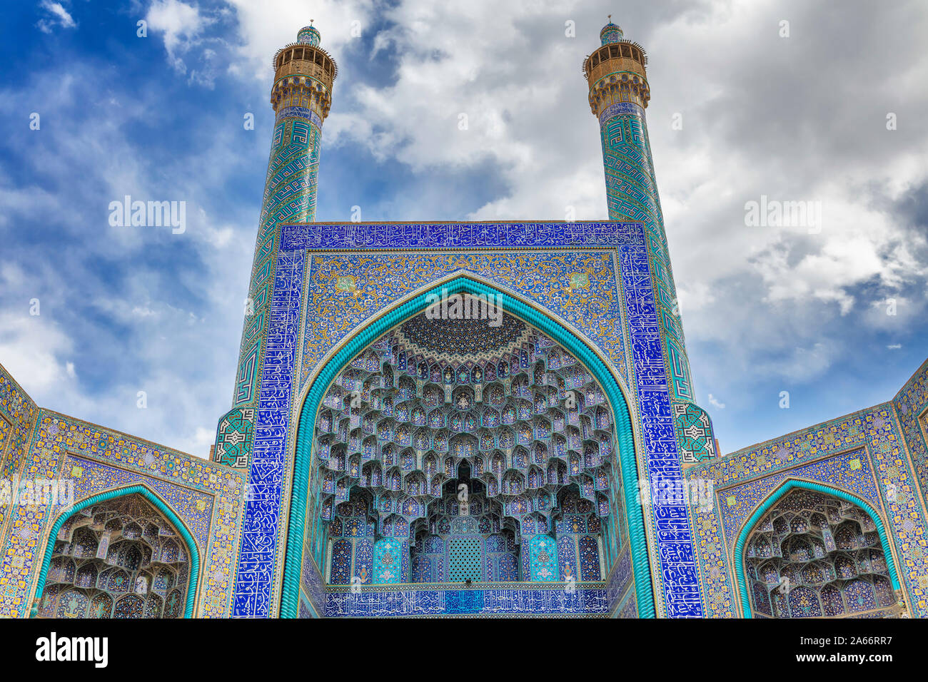
[[(377, 341), (388, 330), (402, 324), (406, 319), (418, 315), (432, 301), (431, 295), (466, 292), (474, 295), (494, 294), (505, 311), (517, 315), (525, 322), (540, 329), (553, 341), (557, 341), (577, 357), (607, 393), (615, 417), (615, 431), (619, 448), (619, 462), (622, 480), (625, 485), (625, 509), (628, 516), (628, 539), (631, 545), (632, 566), (635, 573), (635, 591), (638, 595), (638, 617), (653, 618), (654, 593), (651, 587), (651, 566), (648, 561), (648, 547), (645, 539), (644, 515), (638, 503), (638, 467), (635, 459), (635, 441), (632, 435), (631, 418), (625, 396), (612, 377), (612, 373), (593, 353), (584, 341), (574, 333), (561, 327), (553, 319), (544, 315), (526, 303), (509, 294), (496, 290), (483, 282), (470, 277), (455, 277), (432, 290), (419, 294), (399, 308), (383, 315), (366, 328), (359, 331), (345, 344), (342, 350), (332, 357), (313, 381), (312, 388), (306, 395), (300, 411), (300, 422), (296, 436), (296, 461), (293, 469), (293, 490), (290, 501), (290, 525), (287, 531), (287, 550), (284, 557), (283, 585), (280, 592), (280, 616), (296, 618), (299, 610), (300, 572), (303, 567), (303, 526), (306, 521), (306, 496), (309, 493), (309, 469), (312, 462), (313, 432), (316, 426), (316, 413), (329, 384), (343, 367), (367, 346)], [(616, 408), (618, 406), (618, 408)]]

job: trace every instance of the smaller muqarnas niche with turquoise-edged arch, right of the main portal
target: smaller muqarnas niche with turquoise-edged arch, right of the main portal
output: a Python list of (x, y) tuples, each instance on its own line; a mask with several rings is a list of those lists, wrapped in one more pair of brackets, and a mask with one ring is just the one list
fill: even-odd
[(735, 551), (748, 617), (898, 617), (903, 611), (883, 521), (844, 491), (785, 483), (745, 524)]

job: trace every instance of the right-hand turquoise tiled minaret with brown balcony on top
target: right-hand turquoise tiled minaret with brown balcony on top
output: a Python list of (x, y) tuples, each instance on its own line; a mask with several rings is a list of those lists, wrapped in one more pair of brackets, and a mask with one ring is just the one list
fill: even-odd
[(583, 71), (589, 83), (589, 106), (599, 119), (609, 218), (645, 225), (654, 298), (666, 339), (668, 384), (672, 384), (668, 388), (672, 399), (690, 402), (690, 363), (644, 115), (651, 99), (645, 71), (648, 57), (641, 45), (625, 40), (622, 29), (612, 21), (602, 28), (599, 38), (600, 46), (586, 58)]

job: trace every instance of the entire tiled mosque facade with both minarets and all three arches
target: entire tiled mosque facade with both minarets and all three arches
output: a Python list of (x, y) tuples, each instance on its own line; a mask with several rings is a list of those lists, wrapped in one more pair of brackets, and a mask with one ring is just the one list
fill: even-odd
[(0, 508), (0, 614), (928, 615), (928, 363), (887, 403), (720, 457), (647, 57), (612, 23), (600, 38), (583, 72), (609, 220), (574, 223), (314, 222), (337, 69), (313, 27), (283, 47), (212, 457), (0, 373), (6, 481), (73, 495)]

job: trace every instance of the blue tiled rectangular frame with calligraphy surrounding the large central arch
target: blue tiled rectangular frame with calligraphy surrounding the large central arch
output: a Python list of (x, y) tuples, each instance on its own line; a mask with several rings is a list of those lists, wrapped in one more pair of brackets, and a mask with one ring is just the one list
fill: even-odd
[[(666, 358), (640, 223), (359, 223), (277, 229), (280, 247), (233, 615), (267, 617), (277, 611), (296, 396), (340, 341), (381, 309), (460, 270), (560, 315), (596, 344), (625, 388), (631, 387), (626, 394), (638, 411), (633, 421), (643, 441), (638, 443), (639, 470), (651, 477), (680, 478)], [(572, 289), (574, 272), (589, 275), (588, 290)], [(336, 287), (340, 275), (355, 278), (353, 290)], [(660, 595), (655, 599), (658, 614), (702, 615), (688, 509), (684, 504), (652, 507), (645, 522)]]

